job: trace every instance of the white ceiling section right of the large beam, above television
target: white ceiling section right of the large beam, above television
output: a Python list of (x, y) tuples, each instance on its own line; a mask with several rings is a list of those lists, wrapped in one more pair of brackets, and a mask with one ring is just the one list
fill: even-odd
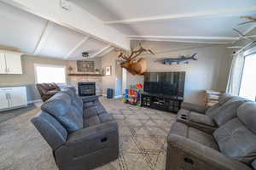
[(256, 16), (255, 0), (69, 0), (131, 39), (227, 43), (241, 15)]

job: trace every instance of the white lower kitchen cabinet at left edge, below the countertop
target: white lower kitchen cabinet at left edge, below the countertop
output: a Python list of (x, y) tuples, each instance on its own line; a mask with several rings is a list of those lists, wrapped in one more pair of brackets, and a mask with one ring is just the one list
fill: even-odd
[(26, 87), (0, 88), (0, 111), (26, 105)]

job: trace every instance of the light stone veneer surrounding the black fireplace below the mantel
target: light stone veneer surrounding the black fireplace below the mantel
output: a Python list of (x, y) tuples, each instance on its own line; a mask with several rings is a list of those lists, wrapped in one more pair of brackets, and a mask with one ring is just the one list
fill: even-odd
[(96, 82), (96, 95), (102, 95), (102, 77), (69, 77), (70, 84), (78, 89), (79, 82)]

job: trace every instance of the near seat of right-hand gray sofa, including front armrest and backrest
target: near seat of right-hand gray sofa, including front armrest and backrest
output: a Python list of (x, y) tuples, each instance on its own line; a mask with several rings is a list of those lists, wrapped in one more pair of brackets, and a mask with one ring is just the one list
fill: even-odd
[(166, 170), (180, 169), (256, 169), (256, 103), (240, 105), (213, 133), (175, 122), (167, 137)]

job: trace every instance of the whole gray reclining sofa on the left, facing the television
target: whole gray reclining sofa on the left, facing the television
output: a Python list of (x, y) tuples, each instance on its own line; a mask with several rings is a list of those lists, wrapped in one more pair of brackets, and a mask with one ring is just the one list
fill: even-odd
[(87, 170), (119, 156), (119, 127), (97, 97), (81, 99), (66, 88), (32, 119), (53, 150), (60, 170)]

